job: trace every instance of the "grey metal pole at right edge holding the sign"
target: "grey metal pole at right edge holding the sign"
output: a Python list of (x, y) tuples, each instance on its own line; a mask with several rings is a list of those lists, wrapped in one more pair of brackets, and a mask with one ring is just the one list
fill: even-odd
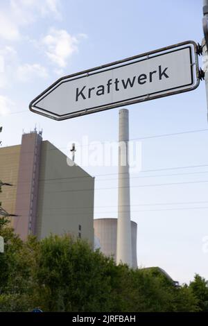
[[(205, 73), (205, 89), (207, 97), (207, 112), (208, 112), (208, 0), (203, 0), (203, 19), (202, 26), (205, 37), (202, 40), (202, 56), (203, 56), (203, 71)], [(208, 114), (207, 114), (208, 120)]]

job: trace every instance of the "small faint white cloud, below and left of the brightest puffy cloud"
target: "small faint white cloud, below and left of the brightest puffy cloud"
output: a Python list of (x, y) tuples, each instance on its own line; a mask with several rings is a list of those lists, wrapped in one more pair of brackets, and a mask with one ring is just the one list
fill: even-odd
[(22, 82), (32, 80), (33, 78), (48, 78), (48, 72), (45, 67), (40, 64), (25, 64), (21, 65), (17, 69), (17, 77)]

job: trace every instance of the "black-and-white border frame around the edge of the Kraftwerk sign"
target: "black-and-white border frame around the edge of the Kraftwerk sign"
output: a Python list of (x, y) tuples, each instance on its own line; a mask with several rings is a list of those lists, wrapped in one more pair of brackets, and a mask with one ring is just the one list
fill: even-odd
[[(184, 46), (186, 44), (187, 44), (187, 46)], [(188, 92), (188, 91), (190, 91), (192, 89), (195, 89), (199, 85), (199, 79), (198, 78), (196, 80), (196, 85), (193, 84), (194, 80), (193, 80), (193, 60), (192, 60), (191, 44), (196, 49), (196, 43), (195, 42), (193, 42), (193, 41), (182, 42), (180, 44), (174, 44), (173, 46), (168, 46), (168, 47), (163, 48), (163, 49), (158, 49), (158, 50), (155, 50), (155, 51), (151, 51), (149, 53), (136, 55), (135, 57), (127, 58), (127, 59), (120, 60), (120, 61), (117, 61), (117, 62), (112, 62), (111, 64), (107, 64), (107, 65), (104, 65), (104, 66), (101, 66), (101, 67), (96, 67), (96, 68), (93, 68), (93, 69), (89, 69), (87, 71), (80, 71), (77, 74), (64, 76), (64, 77), (58, 79), (55, 83), (53, 83), (53, 85), (48, 87), (44, 92), (42, 92), (42, 94), (37, 96), (30, 103), (29, 108), (30, 108), (31, 111), (33, 111), (35, 113), (38, 113), (38, 114), (42, 114), (42, 115), (44, 115), (46, 117), (50, 117), (50, 118), (55, 119), (55, 120), (64, 120), (64, 119), (70, 119), (72, 117), (78, 117), (78, 116), (85, 115), (85, 114), (90, 114), (90, 113), (94, 113), (94, 112), (100, 112), (100, 111), (103, 111), (103, 110), (108, 110), (110, 108), (117, 108), (117, 107), (123, 106), (123, 105), (129, 105), (129, 104), (132, 104), (132, 103), (139, 103), (141, 101), (147, 101), (147, 100), (151, 100), (151, 99), (154, 99), (154, 98), (170, 96), (170, 95), (173, 95), (173, 94), (178, 94), (180, 92)], [(175, 49), (175, 50), (172, 50), (172, 51), (168, 51), (168, 50), (173, 49), (173, 48), (178, 47), (178, 46), (183, 46), (183, 47), (180, 47), (180, 49)], [(44, 108), (40, 108), (39, 106), (37, 106), (37, 104), (40, 103), (40, 101), (42, 101), (43, 98), (45, 98), (51, 92), (53, 92), (54, 89), (56, 89), (57, 87), (62, 85), (62, 83), (69, 83), (70, 81), (73, 81), (73, 80), (77, 80), (77, 79), (80, 79), (80, 78), (86, 78), (87, 76), (92, 76), (94, 74), (101, 74), (104, 71), (117, 69), (119, 67), (125, 67), (127, 65), (132, 65), (134, 63), (142, 62), (144, 60), (150, 60), (150, 58), (155, 58), (157, 56), (166, 55), (168, 53), (181, 51), (183, 49), (189, 49), (189, 55), (190, 55), (191, 83), (189, 83), (187, 85), (180, 85), (180, 86), (173, 87), (173, 88), (170, 88), (170, 89), (163, 89), (162, 91), (159, 91), (159, 92), (144, 94), (142, 96), (137, 96), (137, 97), (134, 97), (134, 98), (126, 98), (125, 100), (116, 101), (114, 103), (105, 103), (105, 105), (99, 105), (99, 106), (92, 107), (92, 108), (85, 108), (83, 110), (73, 111), (73, 112), (70, 112), (70, 113), (67, 113), (67, 114), (55, 114), (54, 112), (51, 112), (49, 110), (45, 110)], [(155, 53), (162, 52), (162, 51), (163, 52), (166, 51), (166, 52), (155, 54)], [(149, 57), (149, 55), (151, 55), (151, 56)], [(135, 61), (136, 59), (142, 58), (142, 57), (146, 57), (146, 58)], [(127, 62), (127, 61), (130, 61), (130, 60), (132, 62), (125, 63), (124, 65), (119, 65), (121, 63), (123, 64), (123, 62)], [(115, 66), (115, 65), (116, 65), (116, 67), (112, 67), (112, 66)], [(108, 67), (110, 67), (110, 68), (105, 69), (105, 68), (108, 68)], [(96, 71), (96, 70), (99, 70), (99, 71)], [(92, 72), (92, 71), (95, 71), (95, 72)], [(90, 74), (90, 73), (92, 73), (92, 74)], [(73, 78), (73, 77), (76, 77), (76, 78)], [(192, 86), (192, 87), (189, 87), (189, 86)], [(183, 87), (189, 87), (189, 88), (183, 88)], [(175, 89), (177, 89), (177, 91), (175, 91)], [(171, 91), (173, 91), (173, 92), (171, 92)], [(165, 93), (165, 92), (168, 92), (168, 93)], [(37, 109), (37, 110), (35, 110), (35, 109)], [(44, 112), (46, 112), (46, 113), (44, 113)]]

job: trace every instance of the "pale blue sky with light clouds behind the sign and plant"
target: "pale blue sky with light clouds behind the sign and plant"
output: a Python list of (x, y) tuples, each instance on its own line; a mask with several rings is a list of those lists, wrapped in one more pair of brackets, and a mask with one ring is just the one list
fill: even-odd
[[(67, 155), (73, 141), (79, 155), (83, 137), (117, 141), (119, 108), (53, 121), (28, 104), (61, 76), (187, 40), (202, 40), (202, 0), (0, 0), (2, 146), (35, 126)], [(141, 142), (141, 171), (130, 174), (138, 265), (181, 283), (208, 278), (205, 82), (126, 108), (130, 139)], [(94, 218), (117, 217), (117, 167), (83, 169), (96, 176)]]

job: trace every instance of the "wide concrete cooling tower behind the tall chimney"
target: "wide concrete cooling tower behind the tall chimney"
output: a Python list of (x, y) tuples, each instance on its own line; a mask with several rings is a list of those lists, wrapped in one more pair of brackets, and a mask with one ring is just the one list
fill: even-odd
[[(117, 218), (98, 218), (94, 220), (94, 234), (98, 248), (104, 255), (113, 257), (116, 262)], [(137, 223), (131, 221), (132, 268), (137, 268)], [(121, 261), (120, 261), (121, 262)]]

